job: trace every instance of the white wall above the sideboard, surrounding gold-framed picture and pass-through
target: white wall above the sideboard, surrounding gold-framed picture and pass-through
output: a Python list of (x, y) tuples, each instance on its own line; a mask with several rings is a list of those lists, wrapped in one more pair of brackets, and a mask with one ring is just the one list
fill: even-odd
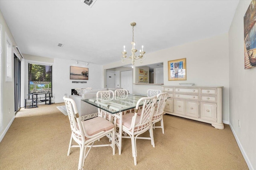
[[(195, 83), (198, 86), (224, 86), (222, 119), (229, 122), (229, 81), (228, 81), (228, 33), (210, 37), (200, 41), (171, 47), (154, 53), (146, 54), (147, 59), (141, 64), (134, 64), (133, 83), (136, 66), (153, 63), (164, 63), (164, 85), (178, 85), (179, 83)], [(168, 61), (186, 58), (187, 80), (168, 81)], [(125, 64), (130, 64), (127, 60)], [(124, 65), (121, 61), (106, 64), (103, 69)], [(148, 89), (162, 90), (159, 85), (133, 85), (133, 93), (144, 93)]]

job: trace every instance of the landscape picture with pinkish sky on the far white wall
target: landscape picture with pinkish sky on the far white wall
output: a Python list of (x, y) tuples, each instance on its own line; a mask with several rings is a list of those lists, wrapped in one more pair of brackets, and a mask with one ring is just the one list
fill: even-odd
[(88, 68), (70, 66), (70, 80), (88, 80)]

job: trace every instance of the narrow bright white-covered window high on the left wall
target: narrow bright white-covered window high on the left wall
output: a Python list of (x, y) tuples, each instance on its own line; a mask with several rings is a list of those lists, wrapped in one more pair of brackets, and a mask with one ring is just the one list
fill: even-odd
[(6, 82), (12, 82), (12, 42), (5, 33), (6, 37)]

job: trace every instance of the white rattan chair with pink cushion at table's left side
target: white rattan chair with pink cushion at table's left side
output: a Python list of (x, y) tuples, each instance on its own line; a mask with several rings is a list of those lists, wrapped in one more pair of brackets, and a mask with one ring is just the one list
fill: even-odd
[[(110, 146), (113, 150), (113, 155), (115, 154), (115, 129), (113, 123), (103, 119), (102, 117), (94, 117), (86, 121), (81, 121), (78, 114), (76, 103), (73, 99), (63, 97), (66, 109), (68, 112), (68, 118), (71, 127), (71, 138), (68, 147), (68, 156), (70, 155), (70, 150), (72, 147), (80, 147), (80, 156), (78, 162), (78, 170), (82, 169), (84, 166), (84, 161), (88, 156), (92, 147), (106, 147)], [(111, 137), (111, 143), (104, 145), (94, 145), (94, 141), (108, 135)], [(73, 142), (78, 145), (74, 145)], [(89, 148), (86, 151), (86, 148)]]

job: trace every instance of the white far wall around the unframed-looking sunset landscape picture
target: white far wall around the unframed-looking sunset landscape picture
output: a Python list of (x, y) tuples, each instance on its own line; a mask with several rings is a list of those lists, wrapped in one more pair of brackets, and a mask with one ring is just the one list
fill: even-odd
[[(70, 80), (70, 66), (86, 67), (88, 68), (88, 80)], [(53, 94), (55, 96), (55, 103), (64, 102), (63, 96), (71, 95), (71, 89), (87, 88), (93, 89), (103, 88), (102, 86), (102, 66), (85, 62), (65, 59), (54, 59), (53, 70)], [(85, 81), (87, 83), (72, 83), (72, 81)]]

